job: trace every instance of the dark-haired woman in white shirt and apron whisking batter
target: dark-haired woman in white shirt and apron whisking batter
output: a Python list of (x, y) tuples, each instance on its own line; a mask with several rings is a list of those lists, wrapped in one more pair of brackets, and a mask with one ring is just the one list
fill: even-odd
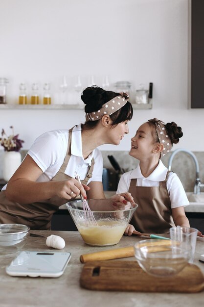
[[(105, 198), (103, 161), (98, 146), (118, 145), (129, 132), (133, 108), (123, 93), (92, 86), (81, 96), (86, 122), (70, 130), (53, 130), (37, 138), (22, 164), (0, 192), (0, 223), (26, 224), (49, 230), (59, 206), (82, 194)], [(82, 184), (76, 180), (75, 172)], [(115, 195), (115, 202), (133, 202), (130, 193)]]

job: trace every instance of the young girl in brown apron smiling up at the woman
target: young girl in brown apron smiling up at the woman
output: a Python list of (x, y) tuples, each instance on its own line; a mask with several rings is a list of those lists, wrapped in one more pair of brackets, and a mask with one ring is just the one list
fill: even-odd
[[(189, 202), (181, 181), (160, 160), (182, 135), (181, 127), (174, 122), (165, 125), (154, 118), (141, 125), (131, 139), (129, 154), (139, 164), (123, 174), (117, 193), (130, 192), (139, 205), (131, 221), (137, 231), (165, 233), (175, 225), (190, 227), (183, 208)], [(137, 234), (134, 227), (129, 225), (125, 234)]]

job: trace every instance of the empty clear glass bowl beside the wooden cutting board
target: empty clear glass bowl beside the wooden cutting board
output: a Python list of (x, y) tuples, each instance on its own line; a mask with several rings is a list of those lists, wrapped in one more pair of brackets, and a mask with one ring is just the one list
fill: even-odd
[(157, 277), (178, 274), (188, 263), (191, 248), (182, 242), (147, 239), (135, 244), (135, 257), (140, 267)]

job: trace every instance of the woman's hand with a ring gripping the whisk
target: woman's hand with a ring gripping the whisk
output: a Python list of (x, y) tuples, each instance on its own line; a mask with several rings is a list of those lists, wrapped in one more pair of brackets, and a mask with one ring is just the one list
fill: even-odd
[(70, 200), (81, 194), (84, 199), (87, 199), (86, 191), (90, 188), (86, 184), (81, 184), (77, 179), (70, 178), (53, 182), (55, 183), (54, 194), (58, 197)]

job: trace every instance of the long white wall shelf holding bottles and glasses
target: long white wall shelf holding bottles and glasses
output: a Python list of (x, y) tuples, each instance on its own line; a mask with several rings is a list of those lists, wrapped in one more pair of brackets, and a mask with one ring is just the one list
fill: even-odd
[[(147, 104), (132, 104), (133, 109), (152, 109), (152, 103)], [(0, 104), (0, 110), (15, 109), (15, 110), (84, 110), (84, 104)]]

